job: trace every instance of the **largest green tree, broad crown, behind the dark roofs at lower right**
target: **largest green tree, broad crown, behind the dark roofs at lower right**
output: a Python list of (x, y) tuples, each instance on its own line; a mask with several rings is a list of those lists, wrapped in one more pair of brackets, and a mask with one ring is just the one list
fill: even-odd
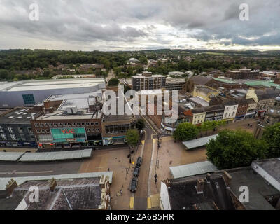
[(207, 144), (207, 159), (218, 169), (231, 169), (251, 165), (253, 160), (264, 159), (265, 141), (243, 130), (223, 130)]

